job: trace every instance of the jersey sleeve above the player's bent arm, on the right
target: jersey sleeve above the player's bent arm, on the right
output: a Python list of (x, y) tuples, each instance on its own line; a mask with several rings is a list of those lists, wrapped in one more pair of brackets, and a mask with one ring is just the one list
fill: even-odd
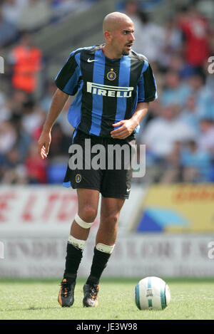
[(150, 64), (144, 61), (141, 77), (138, 81), (138, 103), (151, 102), (158, 98), (156, 79)]

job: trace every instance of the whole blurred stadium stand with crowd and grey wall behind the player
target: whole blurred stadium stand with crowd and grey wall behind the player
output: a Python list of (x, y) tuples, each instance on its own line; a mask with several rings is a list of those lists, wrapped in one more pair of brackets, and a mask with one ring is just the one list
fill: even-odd
[[(66, 110), (72, 98), (54, 127), (49, 160), (39, 162), (34, 157), (35, 142), (55, 90), (54, 77), (71, 51), (103, 42), (103, 16), (114, 10), (133, 18), (133, 49), (148, 57), (158, 82), (158, 100), (151, 103), (137, 135), (138, 144), (147, 147), (146, 177), (137, 182), (214, 182), (214, 79), (208, 71), (208, 58), (214, 52), (212, 1), (173, 1), (170, 9), (172, 1), (134, 2), (1, 1), (0, 36), (10, 32), (5, 40), (0, 38), (6, 63), (0, 78), (2, 184), (61, 183), (71, 141)], [(29, 25), (27, 20), (25, 25), (19, 24), (24, 16), (30, 18), (29, 8), (36, 14), (39, 6), (46, 6), (43, 20), (36, 20), (35, 25), (30, 19)], [(31, 94), (15, 87), (12, 80), (11, 54), (20, 46), (23, 29), (42, 55)]]

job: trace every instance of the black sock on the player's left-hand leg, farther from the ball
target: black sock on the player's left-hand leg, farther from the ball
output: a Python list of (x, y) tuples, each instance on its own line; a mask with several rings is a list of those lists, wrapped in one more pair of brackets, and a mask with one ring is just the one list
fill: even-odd
[(78, 266), (81, 263), (83, 251), (72, 244), (67, 244), (66, 268), (63, 278), (66, 278), (68, 283), (76, 281)]

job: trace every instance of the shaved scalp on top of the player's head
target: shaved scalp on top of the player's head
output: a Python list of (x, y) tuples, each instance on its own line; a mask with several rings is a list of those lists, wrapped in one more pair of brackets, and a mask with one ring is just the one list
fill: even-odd
[(133, 21), (126, 14), (114, 11), (103, 19), (103, 32), (115, 31), (121, 24), (133, 24)]

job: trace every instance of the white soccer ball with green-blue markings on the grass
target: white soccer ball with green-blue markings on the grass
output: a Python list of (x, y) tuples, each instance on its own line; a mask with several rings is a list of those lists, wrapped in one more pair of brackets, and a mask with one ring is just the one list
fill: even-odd
[(134, 297), (139, 310), (163, 310), (170, 302), (170, 290), (163, 279), (146, 277), (136, 285)]

